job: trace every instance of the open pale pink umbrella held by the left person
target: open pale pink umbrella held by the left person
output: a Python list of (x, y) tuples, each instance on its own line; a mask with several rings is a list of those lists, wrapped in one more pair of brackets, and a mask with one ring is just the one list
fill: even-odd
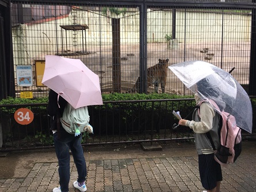
[(74, 108), (103, 104), (99, 76), (80, 59), (46, 55), (42, 84), (57, 92)]

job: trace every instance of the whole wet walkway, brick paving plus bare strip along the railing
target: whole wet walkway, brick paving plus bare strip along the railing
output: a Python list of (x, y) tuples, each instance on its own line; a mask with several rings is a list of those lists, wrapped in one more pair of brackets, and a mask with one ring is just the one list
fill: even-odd
[[(161, 144), (162, 145), (162, 144)], [(256, 142), (243, 142), (242, 155), (223, 168), (221, 192), (256, 191)], [(87, 191), (201, 191), (194, 144), (164, 144), (163, 150), (145, 152), (140, 145), (86, 147)], [(58, 186), (58, 163), (53, 149), (12, 152), (0, 158), (13, 174), (0, 173), (0, 191), (50, 192)], [(4, 165), (6, 164), (6, 165)], [(70, 192), (77, 178), (70, 163)], [(3, 170), (5, 170), (3, 168)], [(1, 170), (0, 170), (1, 172)]]

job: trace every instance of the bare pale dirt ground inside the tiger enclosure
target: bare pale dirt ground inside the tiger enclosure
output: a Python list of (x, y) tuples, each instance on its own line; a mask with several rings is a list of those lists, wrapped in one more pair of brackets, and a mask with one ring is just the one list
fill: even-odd
[[(206, 48), (206, 50), (205, 50)], [(221, 49), (223, 51), (221, 51)], [(88, 46), (88, 54), (73, 55), (79, 58), (92, 71), (99, 75), (103, 92), (112, 92), (112, 46)], [(223, 44), (183, 44), (175, 42), (170, 48), (167, 43), (148, 43), (147, 65), (156, 65), (159, 59), (169, 59), (169, 64), (174, 65), (184, 61), (200, 60), (212, 63), (229, 71), (236, 69), (232, 75), (240, 84), (249, 83), (250, 69), (250, 44), (249, 42)], [(72, 55), (72, 54), (71, 54)], [(121, 86), (126, 92), (133, 87), (140, 74), (140, 45), (127, 44), (121, 46)], [(153, 87), (149, 92), (153, 92)], [(183, 94), (185, 89), (182, 82), (176, 78), (171, 70), (168, 70), (165, 92)], [(160, 91), (161, 92), (161, 91)]]

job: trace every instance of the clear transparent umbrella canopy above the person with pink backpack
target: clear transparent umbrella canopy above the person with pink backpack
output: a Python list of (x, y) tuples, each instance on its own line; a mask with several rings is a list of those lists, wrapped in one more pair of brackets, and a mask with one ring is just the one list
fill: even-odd
[(188, 61), (169, 66), (171, 71), (202, 99), (211, 99), (236, 118), (236, 124), (249, 133), (253, 127), (251, 101), (230, 73), (204, 61)]

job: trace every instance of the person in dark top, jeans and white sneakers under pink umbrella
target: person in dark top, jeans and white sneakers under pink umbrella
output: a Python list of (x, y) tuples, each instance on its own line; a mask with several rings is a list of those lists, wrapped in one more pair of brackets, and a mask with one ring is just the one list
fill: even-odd
[[(58, 98), (59, 97), (59, 98)], [(74, 163), (77, 167), (78, 179), (73, 183), (80, 191), (86, 191), (86, 163), (84, 151), (81, 145), (82, 134), (69, 134), (62, 127), (59, 118), (62, 116), (67, 101), (52, 90), (49, 92), (48, 115), (51, 117), (52, 133), (54, 133), (55, 152), (59, 163), (59, 184), (60, 187), (55, 187), (53, 192), (68, 192), (70, 180), (70, 155), (69, 149), (73, 155)]]

